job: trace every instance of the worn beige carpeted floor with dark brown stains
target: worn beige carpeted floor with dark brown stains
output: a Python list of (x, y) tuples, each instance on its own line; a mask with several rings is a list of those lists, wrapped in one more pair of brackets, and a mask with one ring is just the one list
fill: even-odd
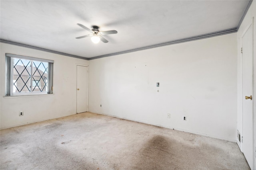
[(95, 113), (1, 130), (1, 170), (250, 169), (236, 143)]

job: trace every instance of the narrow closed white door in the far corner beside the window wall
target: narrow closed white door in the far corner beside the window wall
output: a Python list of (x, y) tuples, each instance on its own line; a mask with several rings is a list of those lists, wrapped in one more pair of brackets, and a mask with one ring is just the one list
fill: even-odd
[(76, 66), (76, 113), (87, 111), (87, 66)]

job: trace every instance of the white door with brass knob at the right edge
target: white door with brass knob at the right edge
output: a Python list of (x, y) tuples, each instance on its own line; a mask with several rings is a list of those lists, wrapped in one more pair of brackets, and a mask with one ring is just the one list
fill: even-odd
[[(242, 148), (244, 156), (253, 169), (253, 39), (252, 24), (247, 27), (244, 35), (242, 35), (242, 86), (243, 86), (243, 129), (242, 129)], [(246, 99), (246, 96), (252, 96), (252, 100)]]

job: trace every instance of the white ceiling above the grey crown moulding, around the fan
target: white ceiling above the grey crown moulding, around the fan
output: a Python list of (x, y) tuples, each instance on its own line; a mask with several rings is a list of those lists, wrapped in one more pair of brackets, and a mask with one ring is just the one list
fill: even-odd
[[(0, 38), (91, 58), (236, 28), (248, 0), (0, 1)], [(108, 43), (92, 43), (77, 23), (100, 31)]]

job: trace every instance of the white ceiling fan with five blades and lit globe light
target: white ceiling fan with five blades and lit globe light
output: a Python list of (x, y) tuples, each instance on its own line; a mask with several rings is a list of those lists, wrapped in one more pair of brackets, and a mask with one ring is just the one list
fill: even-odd
[(104, 37), (102, 37), (102, 35), (108, 35), (108, 34), (116, 34), (117, 31), (116, 30), (110, 30), (110, 31), (100, 31), (98, 26), (96, 25), (93, 25), (92, 26), (92, 29), (89, 29), (87, 28), (86, 26), (78, 23), (77, 25), (79, 25), (80, 27), (86, 29), (87, 31), (91, 32), (91, 34), (88, 34), (88, 35), (83, 35), (81, 37), (76, 37), (76, 39), (80, 39), (80, 38), (84, 38), (84, 37), (91, 37), (91, 40), (93, 43), (98, 43), (100, 42), (100, 40), (103, 42), (103, 43), (108, 43), (108, 40), (106, 40)]

